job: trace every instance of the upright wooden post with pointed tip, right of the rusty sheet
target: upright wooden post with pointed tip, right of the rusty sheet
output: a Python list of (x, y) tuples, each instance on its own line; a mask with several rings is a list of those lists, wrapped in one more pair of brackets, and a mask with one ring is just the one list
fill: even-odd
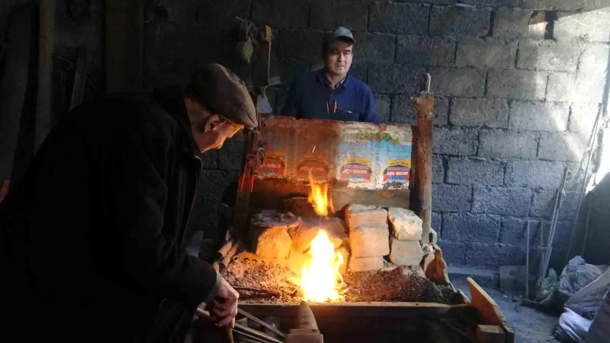
[(412, 99), (417, 118), (415, 132), (415, 197), (412, 208), (422, 218), (422, 244), (429, 244), (432, 227), (432, 107), (434, 94), (430, 93), (430, 74), (422, 75), (420, 96)]

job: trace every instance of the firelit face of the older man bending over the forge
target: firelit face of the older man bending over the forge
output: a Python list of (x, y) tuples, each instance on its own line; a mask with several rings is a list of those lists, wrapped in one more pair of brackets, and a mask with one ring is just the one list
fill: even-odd
[(193, 137), (202, 153), (222, 148), (224, 140), (232, 138), (243, 129), (243, 125), (231, 123), (220, 115), (210, 113), (198, 101), (188, 97), (184, 99)]

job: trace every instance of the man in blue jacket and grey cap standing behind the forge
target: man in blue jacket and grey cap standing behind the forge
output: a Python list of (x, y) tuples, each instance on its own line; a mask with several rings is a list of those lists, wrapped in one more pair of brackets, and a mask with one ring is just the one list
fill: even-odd
[(349, 73), (354, 35), (345, 27), (325, 35), (324, 68), (297, 78), (290, 86), (281, 114), (297, 119), (331, 119), (379, 123), (375, 97)]

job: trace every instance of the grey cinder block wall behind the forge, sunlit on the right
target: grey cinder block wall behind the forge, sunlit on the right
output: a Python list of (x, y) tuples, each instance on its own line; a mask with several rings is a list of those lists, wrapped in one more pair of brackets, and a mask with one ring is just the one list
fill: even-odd
[[(433, 225), (447, 262), (495, 270), (523, 264), (526, 221), (534, 247), (569, 170), (553, 243), (552, 262), (561, 265), (583, 180), (580, 159), (604, 97), (610, 1), (456, 2), (146, 0), (145, 84), (184, 84), (206, 62), (251, 82), (229, 37), (239, 16), (274, 29), (272, 73), (282, 85), (268, 96), (280, 109), (292, 79), (321, 66), (323, 32), (346, 26), (358, 42), (351, 71), (372, 88), (382, 121), (414, 123), (409, 97), (420, 73), (432, 76)], [(90, 71), (102, 80), (103, 1), (90, 4), (88, 15), (74, 16), (58, 1), (56, 54), (73, 58), (87, 43)], [(0, 8), (0, 24), (10, 5)], [(191, 225), (207, 237), (218, 239), (218, 205), (223, 196), (231, 201), (242, 144), (232, 140), (204, 158)], [(546, 240), (548, 225), (544, 231)], [(581, 240), (577, 233), (579, 252)]]

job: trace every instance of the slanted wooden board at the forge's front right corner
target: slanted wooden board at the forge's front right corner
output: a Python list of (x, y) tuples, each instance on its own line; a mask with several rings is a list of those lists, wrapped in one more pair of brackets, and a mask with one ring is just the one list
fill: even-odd
[(468, 283), (468, 288), (470, 289), (470, 295), (472, 297), (472, 301), (470, 304), (474, 306), (477, 311), (483, 316), (485, 320), (485, 324), (487, 325), (500, 325), (504, 331), (506, 331), (506, 343), (513, 343), (515, 341), (515, 333), (512, 331), (511, 325), (504, 317), (500, 306), (498, 306), (493, 299), (487, 295), (485, 291), (476, 284), (475, 280), (468, 277), (466, 278), (466, 282)]

